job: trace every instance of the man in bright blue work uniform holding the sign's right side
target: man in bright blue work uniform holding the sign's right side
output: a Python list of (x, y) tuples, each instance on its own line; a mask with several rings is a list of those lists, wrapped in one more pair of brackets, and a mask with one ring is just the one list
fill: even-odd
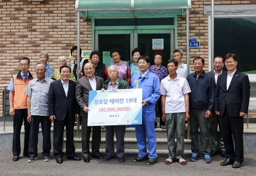
[[(142, 88), (142, 124), (135, 125), (137, 145), (139, 155), (134, 158), (134, 162), (148, 160), (147, 164), (155, 164), (158, 162), (156, 154), (156, 133), (155, 133), (155, 106), (160, 97), (160, 80), (156, 74), (148, 70), (150, 66), (150, 58), (148, 56), (140, 56), (138, 59), (139, 74), (132, 77), (131, 88)], [(148, 138), (148, 152), (146, 149), (146, 137)]]

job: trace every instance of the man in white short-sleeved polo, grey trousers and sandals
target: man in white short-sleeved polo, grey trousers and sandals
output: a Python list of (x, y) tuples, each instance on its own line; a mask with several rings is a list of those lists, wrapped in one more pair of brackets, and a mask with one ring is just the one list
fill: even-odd
[[(189, 120), (188, 93), (191, 92), (186, 78), (176, 73), (177, 60), (168, 60), (169, 76), (164, 78), (160, 85), (162, 100), (162, 120), (166, 121), (167, 143), (169, 158), (165, 164), (172, 164), (177, 159), (182, 165), (187, 164), (184, 156), (185, 120)], [(174, 101), (175, 100), (175, 101)], [(177, 142), (175, 144), (174, 131), (176, 127)]]

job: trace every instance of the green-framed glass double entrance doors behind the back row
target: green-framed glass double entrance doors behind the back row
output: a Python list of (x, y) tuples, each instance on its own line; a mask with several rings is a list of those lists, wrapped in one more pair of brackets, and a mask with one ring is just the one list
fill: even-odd
[[(154, 41), (162, 42), (162, 48), (154, 49)], [(129, 64), (134, 62), (132, 50), (141, 48), (144, 55), (150, 57), (150, 65), (154, 64), (153, 55), (156, 52), (164, 54), (163, 66), (172, 58), (174, 50), (174, 30), (95, 30), (95, 50), (102, 54), (102, 62), (108, 66), (113, 59), (109, 53), (112, 48), (121, 50), (121, 60)]]

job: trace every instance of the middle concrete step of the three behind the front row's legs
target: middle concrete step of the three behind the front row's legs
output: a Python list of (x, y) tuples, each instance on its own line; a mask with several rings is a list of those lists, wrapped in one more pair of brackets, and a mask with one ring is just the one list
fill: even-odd
[[(82, 148), (82, 138), (74, 138), (74, 146), (75, 148)], [(156, 146), (158, 150), (168, 150), (167, 138), (156, 138)], [(65, 138), (64, 148), (66, 148)], [(90, 148), (92, 148), (92, 138), (90, 138)], [(106, 148), (106, 139), (101, 138), (100, 149), (104, 148)], [(114, 138), (114, 148), (116, 149), (116, 138)], [(138, 150), (136, 138), (124, 138), (124, 148)], [(191, 150), (191, 140), (184, 139), (184, 150)]]

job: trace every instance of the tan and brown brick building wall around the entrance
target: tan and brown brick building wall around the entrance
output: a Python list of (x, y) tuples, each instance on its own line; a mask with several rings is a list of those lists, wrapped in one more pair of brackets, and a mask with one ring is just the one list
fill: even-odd
[[(200, 39), (200, 48), (190, 49), (190, 67), (195, 57), (205, 59), (208, 70), (208, 15), (204, 6), (211, 0), (192, 0), (190, 10), (190, 38)], [(256, 0), (215, 0), (215, 5), (256, 4)], [(0, 1), (0, 84), (9, 84), (12, 74), (20, 69), (22, 56), (31, 59), (30, 71), (39, 61), (39, 54), (48, 52), (49, 64), (58, 68), (59, 56), (69, 60), (70, 48), (77, 43), (77, 12), (75, 0), (1, 0)], [(80, 18), (80, 46), (91, 50), (91, 20)], [(186, 61), (186, 18), (178, 16), (178, 47), (184, 50)], [(2, 89), (0, 90), (0, 115), (2, 114)]]

